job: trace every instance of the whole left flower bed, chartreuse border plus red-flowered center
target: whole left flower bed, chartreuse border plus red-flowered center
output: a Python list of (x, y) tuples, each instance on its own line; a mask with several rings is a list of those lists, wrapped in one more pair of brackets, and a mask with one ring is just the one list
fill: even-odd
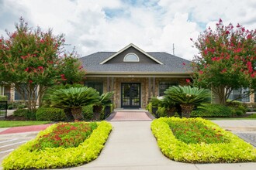
[[(96, 125), (95, 125), (96, 124)], [(78, 146), (72, 147), (71, 145), (64, 144), (67, 136), (76, 136), (74, 128), (85, 127), (85, 134), (92, 131), (87, 136), (84, 135), (84, 141), (75, 142)], [(61, 131), (68, 131), (64, 135)], [(73, 129), (73, 130), (72, 130)], [(41, 131), (35, 139), (28, 141), (25, 145), (20, 146), (15, 151), (4, 159), (2, 166), (5, 169), (28, 169), (28, 168), (65, 168), (70, 166), (78, 166), (87, 162), (91, 162), (95, 158), (98, 158), (100, 151), (104, 147), (104, 144), (109, 137), (109, 133), (112, 130), (112, 125), (106, 121), (99, 123), (71, 123), (67, 124), (53, 124), (45, 131)], [(55, 131), (55, 132), (54, 132)], [(57, 138), (51, 138), (51, 134), (58, 134)], [(77, 129), (77, 131), (81, 132)], [(81, 132), (82, 133), (82, 132)], [(73, 135), (74, 134), (74, 135)], [(51, 138), (52, 144), (50, 148), (47, 147), (45, 141), (41, 140), (42, 137)], [(82, 135), (83, 136), (83, 135)], [(54, 136), (55, 137), (55, 136)], [(54, 141), (60, 141), (60, 147), (56, 147)], [(61, 142), (62, 141), (62, 142)], [(68, 144), (67, 142), (66, 144)], [(43, 145), (42, 145), (43, 144)], [(54, 146), (53, 146), (54, 144)], [(36, 148), (35, 146), (41, 146)]]

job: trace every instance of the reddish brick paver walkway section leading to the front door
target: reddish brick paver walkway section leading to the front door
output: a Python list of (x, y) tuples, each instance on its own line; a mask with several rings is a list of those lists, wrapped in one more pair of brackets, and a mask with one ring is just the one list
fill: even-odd
[(151, 121), (153, 118), (144, 111), (117, 111), (107, 121)]

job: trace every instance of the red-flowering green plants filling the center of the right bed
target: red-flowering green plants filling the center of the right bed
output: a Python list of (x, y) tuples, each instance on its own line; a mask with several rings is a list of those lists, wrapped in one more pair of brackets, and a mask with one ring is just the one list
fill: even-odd
[(169, 123), (171, 131), (175, 134), (175, 138), (186, 144), (206, 144), (228, 142), (227, 138), (223, 138), (221, 131), (209, 128), (205, 124), (195, 119), (182, 119)]

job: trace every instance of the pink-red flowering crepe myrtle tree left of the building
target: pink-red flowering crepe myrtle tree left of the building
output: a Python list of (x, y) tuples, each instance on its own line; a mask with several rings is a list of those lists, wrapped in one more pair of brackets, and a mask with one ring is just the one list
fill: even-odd
[[(68, 70), (64, 65), (67, 60), (77, 63), (76, 54), (64, 53), (64, 36), (54, 36), (50, 29), (43, 32), (40, 27), (29, 28), (22, 18), (15, 26), (15, 32), (6, 32), (6, 38), (0, 38), (0, 83), (17, 90), (26, 99), (28, 109), (34, 111), (36, 100), (41, 104), (47, 87), (69, 80), (74, 82), (71, 75), (64, 74)], [(75, 70), (72, 75), (84, 74), (78, 68), (71, 66)]]

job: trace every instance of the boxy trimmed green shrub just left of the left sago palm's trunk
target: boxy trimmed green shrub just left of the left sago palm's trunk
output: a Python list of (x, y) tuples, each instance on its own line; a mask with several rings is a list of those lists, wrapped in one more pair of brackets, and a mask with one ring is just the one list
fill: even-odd
[(40, 107), (36, 110), (36, 121), (65, 121), (66, 119), (63, 109)]

